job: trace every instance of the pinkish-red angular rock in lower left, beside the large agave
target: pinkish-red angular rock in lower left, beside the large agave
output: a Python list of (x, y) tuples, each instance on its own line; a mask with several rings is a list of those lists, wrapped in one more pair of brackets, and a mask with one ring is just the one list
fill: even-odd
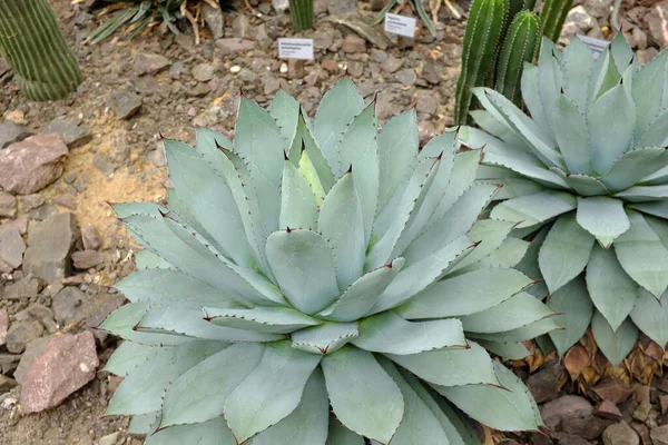
[(99, 365), (92, 334), (51, 337), (23, 378), (23, 413), (58, 406), (95, 377)]

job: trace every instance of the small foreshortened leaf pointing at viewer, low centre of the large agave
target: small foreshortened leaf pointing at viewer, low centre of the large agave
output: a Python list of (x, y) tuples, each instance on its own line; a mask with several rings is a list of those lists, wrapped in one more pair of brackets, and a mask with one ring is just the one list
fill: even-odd
[(330, 354), (341, 349), (360, 332), (357, 323), (323, 323), (292, 335), (292, 347), (312, 354)]

